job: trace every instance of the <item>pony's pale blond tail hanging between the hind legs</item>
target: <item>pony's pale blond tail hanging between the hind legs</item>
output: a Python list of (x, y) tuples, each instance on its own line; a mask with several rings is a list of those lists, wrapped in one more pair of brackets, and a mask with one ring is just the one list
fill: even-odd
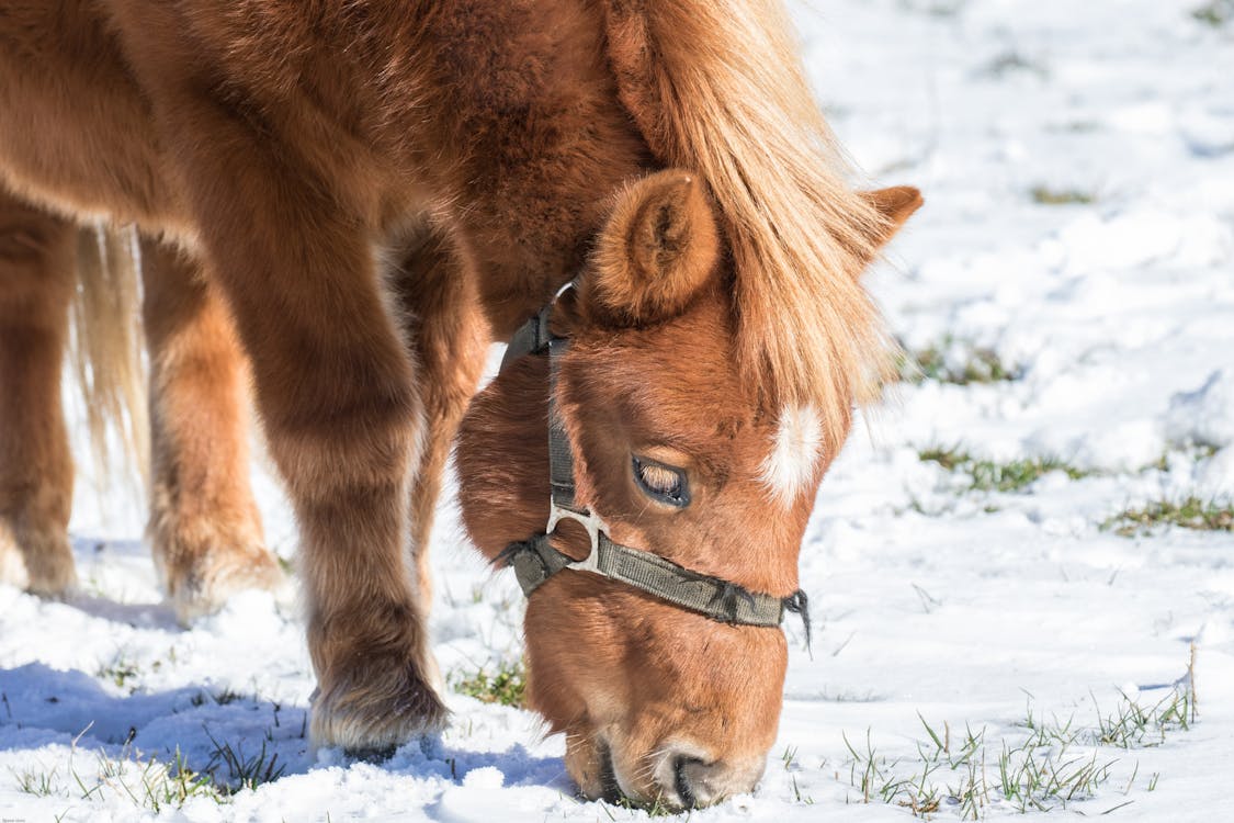
[(96, 476), (106, 484), (112, 449), (141, 468), (149, 487), (149, 423), (141, 362), (141, 297), (132, 230), (78, 230), (73, 365), (81, 389)]

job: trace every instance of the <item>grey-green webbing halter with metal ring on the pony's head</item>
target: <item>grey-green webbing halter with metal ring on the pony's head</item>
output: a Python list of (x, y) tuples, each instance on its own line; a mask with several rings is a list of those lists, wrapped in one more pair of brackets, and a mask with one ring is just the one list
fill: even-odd
[[(568, 283), (531, 320), (523, 323), (510, 341), (501, 360), (501, 371), (524, 354), (548, 352), (548, 454), (550, 508), (548, 526), (542, 534), (507, 545), (499, 560), (512, 566), (523, 595), (528, 598), (544, 581), (566, 569), (586, 571), (608, 577), (645, 591), (681, 608), (698, 612), (713, 621), (734, 626), (776, 627), (784, 622), (785, 612), (800, 614), (806, 627), (806, 647), (810, 647), (810, 601), (800, 589), (787, 597), (775, 597), (755, 592), (735, 582), (712, 577), (679, 566), (666, 558), (650, 552), (639, 552), (608, 537), (608, 526), (598, 515), (580, 506), (575, 500), (574, 452), (570, 448), (565, 424), (557, 403), (557, 384), (561, 359), (569, 341), (549, 331), (549, 315), (557, 299), (574, 287)], [(558, 523), (571, 519), (586, 529), (591, 552), (582, 560), (575, 560), (553, 548), (552, 536)]]

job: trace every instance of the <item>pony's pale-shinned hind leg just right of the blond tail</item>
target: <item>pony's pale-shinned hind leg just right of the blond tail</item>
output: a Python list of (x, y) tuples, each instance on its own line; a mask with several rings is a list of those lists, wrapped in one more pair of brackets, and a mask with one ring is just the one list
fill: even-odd
[(154, 565), (180, 622), (284, 581), (249, 486), (247, 368), (200, 265), (142, 237)]

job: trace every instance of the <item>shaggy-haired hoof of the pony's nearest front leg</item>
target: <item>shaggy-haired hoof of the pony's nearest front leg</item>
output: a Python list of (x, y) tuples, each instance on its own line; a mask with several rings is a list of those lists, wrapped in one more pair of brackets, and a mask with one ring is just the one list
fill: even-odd
[(384, 760), (404, 743), (445, 727), (449, 712), (421, 666), (406, 658), (355, 655), (360, 663), (312, 701), (315, 746), (339, 746), (349, 756)]

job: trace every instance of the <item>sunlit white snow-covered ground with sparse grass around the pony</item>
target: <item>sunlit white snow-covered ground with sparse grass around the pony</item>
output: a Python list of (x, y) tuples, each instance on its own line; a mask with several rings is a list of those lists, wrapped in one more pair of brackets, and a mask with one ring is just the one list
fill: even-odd
[[(694, 819), (907, 819), (932, 797), (939, 818), (1229, 813), (1234, 533), (1111, 523), (1234, 498), (1234, 20), (1198, 7), (1234, 17), (1227, 0), (795, 9), (859, 164), (926, 192), (870, 285), (928, 376), (868, 416), (823, 484), (802, 554), (813, 656), (790, 623), (761, 786)], [(956, 380), (992, 366), (1012, 379)], [(1059, 468), (988, 489), (1025, 460)], [(580, 802), (534, 716), (459, 693), (441, 740), (387, 763), (310, 755), (295, 610), (252, 595), (176, 628), (133, 496), (84, 481), (78, 498), (84, 592), (0, 587), (5, 821), (645, 816)], [(521, 595), (449, 515), (434, 565), (450, 681), (516, 661)], [(1153, 711), (1119, 723), (1128, 700)], [(178, 758), (279, 777), (220, 803), (164, 777)], [(1006, 797), (1003, 766), (1032, 801)]]

